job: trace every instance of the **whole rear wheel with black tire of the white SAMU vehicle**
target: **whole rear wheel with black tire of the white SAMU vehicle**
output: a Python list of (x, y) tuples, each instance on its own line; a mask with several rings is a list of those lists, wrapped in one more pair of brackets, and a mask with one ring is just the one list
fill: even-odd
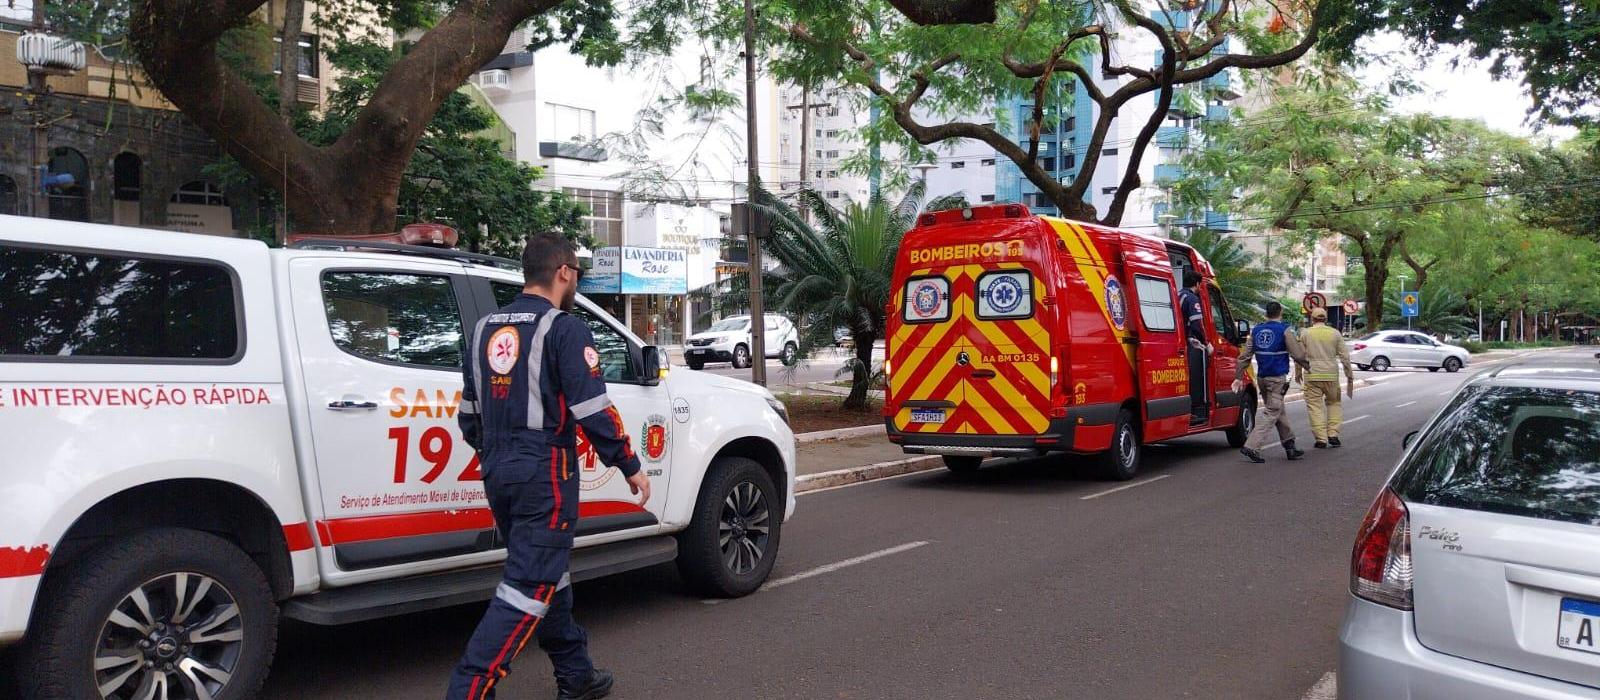
[(27, 698), (251, 698), (277, 647), (278, 611), (261, 567), (206, 532), (117, 537), (42, 596), (18, 666)]

